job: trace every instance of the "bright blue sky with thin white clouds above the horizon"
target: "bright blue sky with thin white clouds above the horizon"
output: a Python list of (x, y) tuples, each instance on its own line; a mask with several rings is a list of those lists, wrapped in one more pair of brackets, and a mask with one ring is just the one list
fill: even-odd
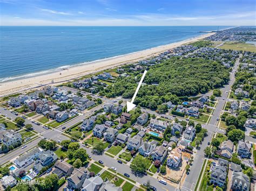
[(0, 25), (256, 25), (253, 0), (0, 0)]

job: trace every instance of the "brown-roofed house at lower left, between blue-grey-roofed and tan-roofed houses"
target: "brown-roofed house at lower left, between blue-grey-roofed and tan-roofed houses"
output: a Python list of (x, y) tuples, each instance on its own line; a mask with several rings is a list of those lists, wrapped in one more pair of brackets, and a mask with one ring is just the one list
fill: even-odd
[(58, 178), (62, 176), (70, 176), (74, 168), (68, 162), (57, 160), (54, 164), (55, 169), (52, 171)]

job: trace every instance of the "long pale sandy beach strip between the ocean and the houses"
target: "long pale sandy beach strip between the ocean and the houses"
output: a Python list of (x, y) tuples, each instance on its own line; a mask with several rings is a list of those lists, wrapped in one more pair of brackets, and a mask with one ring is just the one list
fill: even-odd
[(64, 81), (69, 81), (86, 74), (96, 73), (100, 70), (104, 70), (107, 68), (113, 68), (123, 65), (125, 63), (136, 62), (139, 60), (150, 58), (151, 56), (157, 55), (160, 52), (164, 52), (168, 49), (175, 48), (183, 44), (192, 43), (194, 41), (204, 39), (208, 36), (211, 36), (212, 34), (214, 33), (207, 33), (199, 37), (187, 39), (177, 43), (154, 47), (136, 53), (126, 54), (122, 56), (117, 56), (115, 58), (109, 58), (105, 60), (86, 63), (84, 65), (76, 67), (71, 67), (69, 69), (62, 70), (61, 75), (60, 72), (55, 72), (26, 79), (2, 82), (0, 83), (0, 96), (14, 94), (18, 93), (19, 91), (36, 88), (40, 84), (50, 84), (52, 81), (54, 81), (54, 83), (52, 83), (52, 86), (54, 86), (63, 83)]

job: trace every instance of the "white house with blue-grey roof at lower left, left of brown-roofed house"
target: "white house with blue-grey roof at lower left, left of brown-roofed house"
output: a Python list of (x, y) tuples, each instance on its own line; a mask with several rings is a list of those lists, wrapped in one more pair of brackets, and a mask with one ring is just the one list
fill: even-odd
[(37, 160), (35, 161), (34, 169), (37, 173), (39, 173), (43, 167), (51, 165), (58, 159), (57, 155), (50, 150), (42, 151), (37, 156)]

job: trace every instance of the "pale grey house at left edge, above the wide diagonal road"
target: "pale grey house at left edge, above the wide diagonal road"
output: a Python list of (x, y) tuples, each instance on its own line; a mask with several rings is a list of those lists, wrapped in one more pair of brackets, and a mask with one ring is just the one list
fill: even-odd
[(15, 133), (13, 131), (6, 131), (3, 133), (2, 143), (9, 146), (15, 146), (21, 144), (22, 136), (19, 133)]

